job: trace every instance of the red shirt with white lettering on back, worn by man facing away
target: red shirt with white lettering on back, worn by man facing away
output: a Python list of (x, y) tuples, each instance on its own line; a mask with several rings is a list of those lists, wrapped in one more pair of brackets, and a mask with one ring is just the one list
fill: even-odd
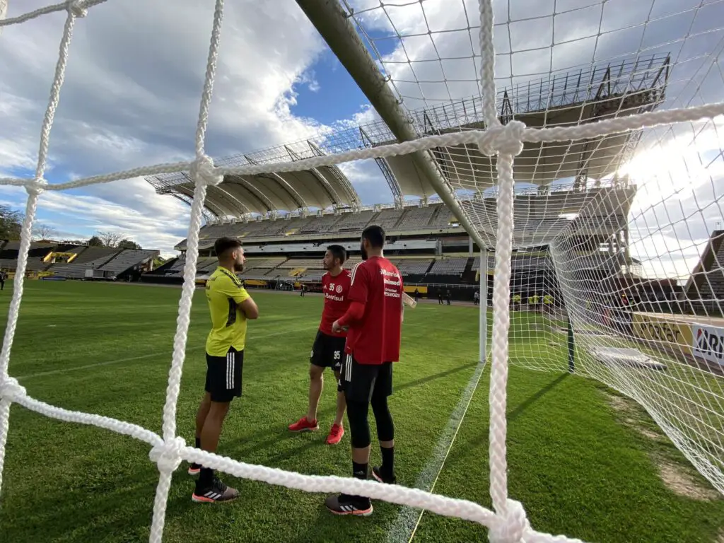
[(400, 360), (403, 278), (387, 258), (371, 256), (352, 269), (348, 298), (364, 313), (350, 321), (345, 353), (361, 364)]

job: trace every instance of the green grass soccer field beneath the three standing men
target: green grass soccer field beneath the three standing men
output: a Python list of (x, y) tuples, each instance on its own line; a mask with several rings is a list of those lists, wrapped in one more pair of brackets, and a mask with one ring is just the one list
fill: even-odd
[[(8, 285), (0, 292), (3, 323), (12, 295)], [(232, 403), (219, 454), (300, 473), (349, 476), (349, 436), (335, 447), (324, 444), (334, 411), (329, 376), (320, 432), (287, 432), (287, 424), (306, 411), (308, 355), (322, 298), (251, 294), (261, 315), (249, 324), (243, 397)], [(179, 296), (176, 288), (146, 285), (27, 282), (10, 374), (38, 400), (160, 433)], [(196, 292), (194, 301), (177, 411), (178, 433), (190, 444), (209, 329), (203, 292)], [(717, 541), (724, 501), (646, 414), (602, 385), (567, 374), (565, 336), (551, 345), (551, 334), (533, 325), (536, 317), (514, 313), (513, 319), (519, 330), (529, 326), (525, 334), (515, 334), (511, 356), (549, 357), (561, 369), (510, 368), (510, 497), (523, 502), (534, 528), (590, 542)], [(455, 416), (466, 408), (460, 398), (476, 378), (477, 330), (477, 308), (420, 304), (406, 311), (390, 409), (398, 483), (431, 484), (454, 435), (434, 490), (490, 507), (488, 368), (455, 434)], [(149, 448), (13, 405), (0, 540), (148, 540), (158, 481)], [(379, 448), (373, 439), (371, 465), (376, 463)], [(164, 541), (408, 541), (418, 520), (419, 511), (384, 502), (374, 502), (368, 518), (338, 518), (324, 508), (324, 495), (230, 476), (224, 481), (240, 490), (240, 500), (195, 504), (187, 466), (182, 463), (174, 473)], [(674, 470), (686, 488), (675, 492), (675, 485), (666, 484), (660, 473), (667, 470)], [(487, 541), (487, 531), (424, 513), (413, 540)]]

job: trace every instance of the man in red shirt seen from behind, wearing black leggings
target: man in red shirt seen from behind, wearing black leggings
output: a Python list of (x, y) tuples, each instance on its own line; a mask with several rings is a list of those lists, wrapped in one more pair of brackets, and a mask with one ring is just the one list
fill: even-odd
[[(403, 279), (400, 271), (382, 256), (384, 230), (373, 225), (362, 232), (362, 262), (352, 269), (350, 308), (332, 324), (332, 331), (348, 328), (342, 389), (347, 398), (347, 418), (352, 441), (352, 471), (367, 479), (370, 434), (367, 413), (372, 405), (382, 466), (372, 476), (383, 483), (395, 483), (395, 427), (387, 397), (392, 394), (392, 363), (400, 360)], [(338, 494), (325, 501), (338, 515), (370, 515), (369, 497)]]

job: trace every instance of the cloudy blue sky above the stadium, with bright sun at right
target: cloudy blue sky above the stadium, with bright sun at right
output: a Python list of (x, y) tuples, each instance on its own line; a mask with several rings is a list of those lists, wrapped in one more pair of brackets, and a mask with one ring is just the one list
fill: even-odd
[[(47, 4), (10, 0), (8, 15)], [(403, 107), (479, 93), (476, 1), (346, 4)], [(193, 158), (213, 9), (213, 0), (109, 0), (77, 20), (51, 132), (49, 182)], [(494, 16), (499, 89), (643, 51), (672, 55), (665, 107), (723, 96), (721, 0), (495, 0)], [(33, 175), (63, 22), (62, 12), (46, 15), (0, 35), (0, 177)], [(376, 118), (295, 1), (226, 2), (209, 155)], [(624, 168), (641, 187), (630, 215), (632, 248), (651, 273), (686, 273), (722, 216), (721, 129), (710, 121), (647, 130)], [(364, 204), (392, 201), (374, 161), (342, 169)], [(0, 187), (0, 203), (22, 209), (24, 202), (24, 190)], [(38, 222), (65, 239), (121, 232), (170, 255), (186, 237), (188, 206), (136, 178), (44, 193)]]

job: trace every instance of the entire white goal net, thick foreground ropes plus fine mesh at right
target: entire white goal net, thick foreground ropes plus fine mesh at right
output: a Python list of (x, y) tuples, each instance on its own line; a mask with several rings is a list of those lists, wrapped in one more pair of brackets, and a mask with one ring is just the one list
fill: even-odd
[[(379, 140), (371, 146), (230, 167), (215, 165), (204, 148), (224, 10), (224, 1), (216, 0), (193, 161), (49, 184), (49, 138), (72, 33), (82, 24), (77, 20), (103, 2), (66, 1), (0, 21), (3, 28), (67, 11), (35, 176), (0, 179), (28, 190), (0, 353), (0, 476), (9, 408), (17, 403), (151, 446), (160, 473), (151, 542), (162, 539), (172, 472), (182, 460), (307, 492), (361, 494), (463, 518), (486, 526), (492, 542), (576, 541), (535, 531), (523, 504), (508, 496), (506, 385), (515, 364), (575, 371), (630, 396), (724, 491), (724, 235), (712, 230), (722, 216), (724, 174), (720, 2), (342, 0), (334, 9), (382, 70), (382, 94), (395, 97), (387, 111), (377, 108), (390, 130), (376, 132)], [(404, 122), (390, 122), (400, 111)], [(419, 489), (253, 466), (188, 447), (177, 436), (207, 188), (225, 174), (361, 159), (385, 161), (399, 183), (404, 172), (417, 175), (422, 190), (437, 193), (483, 250), (481, 273), (492, 271), (492, 510)], [(43, 192), (180, 171), (190, 172), (195, 190), (161, 435), (28, 396), (9, 374), (9, 361)]]

